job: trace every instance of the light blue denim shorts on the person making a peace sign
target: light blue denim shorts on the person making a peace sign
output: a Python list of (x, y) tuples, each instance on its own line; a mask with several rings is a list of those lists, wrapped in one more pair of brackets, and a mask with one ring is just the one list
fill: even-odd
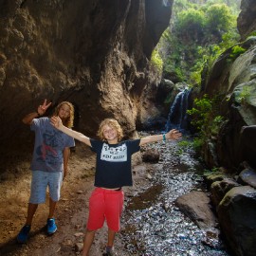
[(62, 183), (63, 172), (48, 173), (43, 171), (32, 171), (29, 203), (45, 203), (47, 187), (52, 201), (59, 201), (61, 197)]

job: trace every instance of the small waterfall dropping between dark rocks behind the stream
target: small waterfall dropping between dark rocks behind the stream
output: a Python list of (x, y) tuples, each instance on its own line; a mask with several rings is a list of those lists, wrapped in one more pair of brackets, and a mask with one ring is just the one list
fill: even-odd
[(177, 129), (179, 131), (186, 131), (188, 129), (188, 100), (191, 90), (184, 89), (179, 92), (174, 100), (174, 103), (170, 107), (167, 123), (165, 125), (166, 131), (171, 129)]

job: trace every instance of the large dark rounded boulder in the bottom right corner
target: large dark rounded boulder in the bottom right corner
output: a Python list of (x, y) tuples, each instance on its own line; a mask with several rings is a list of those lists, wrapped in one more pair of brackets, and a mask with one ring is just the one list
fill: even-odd
[(235, 255), (254, 256), (256, 251), (256, 190), (231, 189), (217, 209), (219, 222)]

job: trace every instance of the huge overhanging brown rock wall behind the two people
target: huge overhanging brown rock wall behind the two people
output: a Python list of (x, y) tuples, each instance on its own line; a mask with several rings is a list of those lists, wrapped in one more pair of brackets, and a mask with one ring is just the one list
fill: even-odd
[(173, 1), (165, 2), (1, 0), (3, 163), (31, 152), (33, 136), (21, 119), (44, 99), (53, 102), (47, 115), (58, 102), (73, 102), (75, 128), (88, 136), (107, 117), (132, 136), (148, 60), (171, 18)]

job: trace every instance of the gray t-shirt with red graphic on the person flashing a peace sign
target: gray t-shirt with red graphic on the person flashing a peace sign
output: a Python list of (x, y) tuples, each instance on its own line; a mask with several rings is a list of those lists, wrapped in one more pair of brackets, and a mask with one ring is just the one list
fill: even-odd
[(54, 128), (48, 118), (33, 119), (30, 129), (35, 132), (31, 170), (63, 172), (64, 148), (74, 147), (74, 138)]

